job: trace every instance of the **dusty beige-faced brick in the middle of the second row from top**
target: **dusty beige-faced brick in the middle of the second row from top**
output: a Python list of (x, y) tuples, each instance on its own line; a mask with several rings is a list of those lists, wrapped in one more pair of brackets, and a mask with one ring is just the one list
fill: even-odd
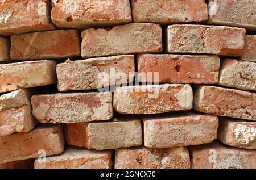
[(90, 28), (81, 35), (83, 58), (161, 52), (163, 49), (159, 24), (130, 23), (110, 30)]

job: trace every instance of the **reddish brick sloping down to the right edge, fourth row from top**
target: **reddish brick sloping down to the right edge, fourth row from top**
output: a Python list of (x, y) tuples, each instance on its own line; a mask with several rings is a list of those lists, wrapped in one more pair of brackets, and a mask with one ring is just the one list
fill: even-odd
[(197, 86), (193, 108), (230, 118), (256, 120), (256, 93), (214, 86)]

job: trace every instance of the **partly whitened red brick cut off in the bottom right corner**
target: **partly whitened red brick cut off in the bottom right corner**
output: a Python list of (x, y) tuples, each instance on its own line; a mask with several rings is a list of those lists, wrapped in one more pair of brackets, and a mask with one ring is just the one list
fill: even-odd
[(189, 146), (193, 169), (255, 169), (256, 150), (238, 149), (214, 141)]

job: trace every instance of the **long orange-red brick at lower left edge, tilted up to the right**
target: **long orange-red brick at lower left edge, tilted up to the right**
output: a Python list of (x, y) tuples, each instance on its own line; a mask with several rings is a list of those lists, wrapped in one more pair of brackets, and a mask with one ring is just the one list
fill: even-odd
[(27, 133), (0, 137), (0, 164), (37, 158), (41, 155), (38, 153), (41, 149), (46, 151), (46, 156), (63, 152), (62, 125), (41, 125)]

